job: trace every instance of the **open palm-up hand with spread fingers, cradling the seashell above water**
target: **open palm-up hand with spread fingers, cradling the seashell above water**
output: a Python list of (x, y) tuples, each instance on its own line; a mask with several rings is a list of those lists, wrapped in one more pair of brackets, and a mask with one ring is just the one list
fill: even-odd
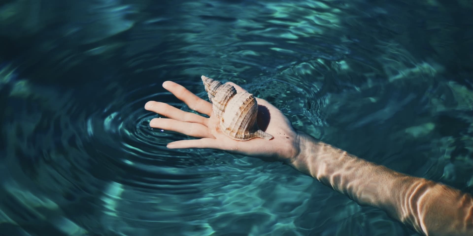
[[(236, 84), (227, 84), (233, 85), (238, 93), (246, 92)], [(145, 105), (146, 110), (166, 116), (166, 118), (152, 119), (149, 126), (200, 138), (168, 143), (167, 148), (211, 148), (259, 157), (264, 160), (284, 162), (292, 162), (299, 153), (298, 132), (292, 127), (289, 119), (268, 101), (256, 98), (259, 106), (257, 121), (258, 126), (274, 138), (271, 140), (253, 138), (247, 141), (236, 141), (220, 131), (219, 118), (213, 114), (210, 102), (171, 81), (164, 82), (163, 87), (179, 100), (184, 101), (192, 110), (209, 116), (206, 118), (192, 112), (179, 110), (164, 102), (148, 101)]]

